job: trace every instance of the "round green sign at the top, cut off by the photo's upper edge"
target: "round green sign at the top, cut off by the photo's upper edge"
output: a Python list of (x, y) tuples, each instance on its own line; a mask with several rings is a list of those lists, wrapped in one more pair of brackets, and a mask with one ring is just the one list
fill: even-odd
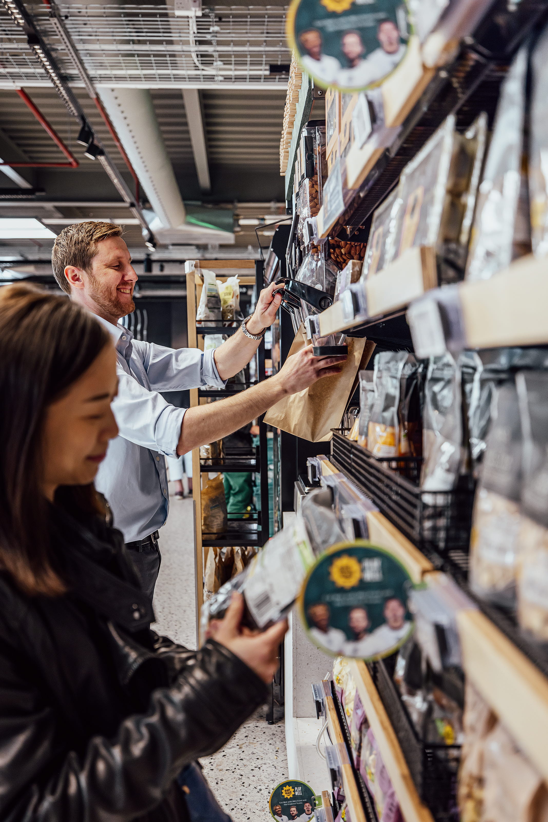
[(410, 26), (404, 0), (293, 0), (288, 43), (324, 88), (379, 85), (402, 61)]

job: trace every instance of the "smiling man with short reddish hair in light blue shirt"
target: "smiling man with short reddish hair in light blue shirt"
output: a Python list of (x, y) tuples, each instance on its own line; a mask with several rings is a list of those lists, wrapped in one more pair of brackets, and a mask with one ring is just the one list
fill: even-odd
[(52, 264), (63, 291), (97, 316), (116, 345), (118, 394), (113, 412), (120, 433), (108, 447), (95, 484), (107, 498), (114, 524), (152, 598), (161, 558), (158, 529), (168, 515), (164, 457), (186, 454), (237, 431), (284, 396), (338, 373), (344, 358), (314, 357), (310, 345), (289, 357), (277, 375), (235, 397), (178, 409), (158, 392), (205, 385), (223, 388), (249, 363), (281, 302), (273, 293), (274, 284), (261, 291), (254, 314), (218, 349), (174, 350), (132, 339), (131, 332), (118, 324), (135, 308), (137, 280), (120, 226), (67, 226), (53, 245)]

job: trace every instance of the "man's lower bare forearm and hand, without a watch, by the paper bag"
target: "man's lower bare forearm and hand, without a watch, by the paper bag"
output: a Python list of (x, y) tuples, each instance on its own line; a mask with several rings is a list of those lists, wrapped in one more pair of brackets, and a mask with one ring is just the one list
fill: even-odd
[[(234, 335), (236, 336), (236, 335)], [(219, 350), (219, 349), (217, 349)], [(279, 399), (311, 386), (322, 376), (338, 374), (346, 357), (315, 357), (307, 346), (288, 357), (278, 374), (242, 391), (236, 397), (219, 399), (187, 409), (182, 420), (177, 454), (220, 440), (252, 419), (260, 417)]]

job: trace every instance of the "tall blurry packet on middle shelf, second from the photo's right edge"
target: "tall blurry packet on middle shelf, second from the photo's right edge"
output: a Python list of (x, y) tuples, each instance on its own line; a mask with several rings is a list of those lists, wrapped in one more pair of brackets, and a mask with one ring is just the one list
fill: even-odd
[(522, 518), (523, 439), (513, 383), (496, 396), (477, 488), (470, 540), (470, 586), (481, 598), (513, 607)]

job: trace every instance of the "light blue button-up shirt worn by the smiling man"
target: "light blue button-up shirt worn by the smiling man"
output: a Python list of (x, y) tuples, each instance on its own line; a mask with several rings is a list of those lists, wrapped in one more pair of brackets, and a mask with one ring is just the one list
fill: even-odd
[(167, 349), (133, 339), (123, 326), (97, 317), (117, 352), (118, 395), (113, 413), (119, 434), (99, 466), (95, 487), (113, 510), (114, 525), (127, 543), (162, 527), (169, 507), (164, 457), (177, 456), (182, 418), (158, 391), (202, 386), (223, 388), (213, 350)]

